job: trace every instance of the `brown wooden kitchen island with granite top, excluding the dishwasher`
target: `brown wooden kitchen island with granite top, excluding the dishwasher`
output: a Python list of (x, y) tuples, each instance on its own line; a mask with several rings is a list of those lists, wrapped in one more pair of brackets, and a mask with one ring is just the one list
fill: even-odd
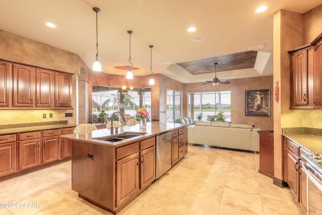
[(175, 166), (187, 153), (187, 126), (148, 122), (146, 128), (122, 126), (113, 135), (108, 129), (63, 135), (72, 141), (72, 190), (116, 214), (155, 181), (156, 136), (172, 131)]

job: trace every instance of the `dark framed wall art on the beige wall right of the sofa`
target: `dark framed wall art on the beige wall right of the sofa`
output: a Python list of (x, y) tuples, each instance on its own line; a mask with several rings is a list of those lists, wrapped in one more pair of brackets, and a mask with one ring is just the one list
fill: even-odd
[(270, 116), (270, 90), (245, 91), (245, 116)]

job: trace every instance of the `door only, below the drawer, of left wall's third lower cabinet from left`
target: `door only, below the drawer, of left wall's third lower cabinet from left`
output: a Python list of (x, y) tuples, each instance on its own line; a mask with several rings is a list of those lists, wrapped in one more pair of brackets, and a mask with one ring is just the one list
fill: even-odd
[(43, 138), (42, 163), (59, 160), (59, 136)]

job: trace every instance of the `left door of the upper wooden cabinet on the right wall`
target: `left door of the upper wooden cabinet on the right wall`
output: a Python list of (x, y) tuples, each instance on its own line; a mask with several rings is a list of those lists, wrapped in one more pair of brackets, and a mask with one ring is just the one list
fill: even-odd
[(307, 105), (307, 50), (291, 55), (291, 106)]

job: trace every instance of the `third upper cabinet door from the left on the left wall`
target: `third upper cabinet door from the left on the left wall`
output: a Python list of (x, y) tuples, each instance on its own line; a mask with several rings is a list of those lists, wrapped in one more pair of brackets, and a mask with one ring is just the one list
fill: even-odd
[(54, 72), (45, 69), (36, 69), (36, 106), (53, 106)]

